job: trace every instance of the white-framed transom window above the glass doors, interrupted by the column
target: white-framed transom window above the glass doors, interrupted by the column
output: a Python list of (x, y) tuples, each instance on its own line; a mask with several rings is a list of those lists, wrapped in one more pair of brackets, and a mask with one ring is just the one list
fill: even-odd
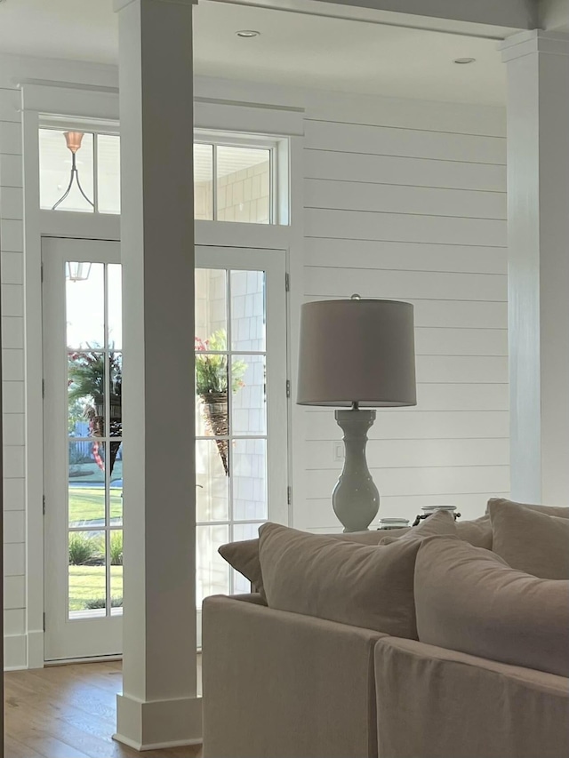
[[(39, 129), (40, 207), (119, 214), (120, 137), (105, 123), (45, 117)], [(194, 218), (288, 223), (287, 141), (196, 132)]]

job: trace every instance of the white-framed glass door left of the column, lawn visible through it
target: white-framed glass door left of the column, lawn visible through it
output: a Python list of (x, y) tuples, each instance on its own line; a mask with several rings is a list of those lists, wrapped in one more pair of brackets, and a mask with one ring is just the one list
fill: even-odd
[(45, 655), (122, 650), (118, 243), (44, 240)]

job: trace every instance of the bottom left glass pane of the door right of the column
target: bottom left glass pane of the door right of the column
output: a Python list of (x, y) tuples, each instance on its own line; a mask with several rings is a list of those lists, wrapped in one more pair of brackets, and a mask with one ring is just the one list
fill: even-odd
[(200, 608), (209, 594), (228, 594), (229, 564), (218, 547), (229, 541), (227, 525), (197, 526), (196, 603)]

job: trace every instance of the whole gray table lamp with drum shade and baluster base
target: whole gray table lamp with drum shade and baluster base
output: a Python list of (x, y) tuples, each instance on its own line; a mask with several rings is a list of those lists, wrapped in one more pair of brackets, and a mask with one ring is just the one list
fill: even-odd
[(345, 458), (333, 490), (344, 531), (365, 531), (380, 494), (365, 460), (373, 408), (416, 405), (413, 305), (398, 300), (323, 300), (301, 307), (297, 400), (335, 411)]

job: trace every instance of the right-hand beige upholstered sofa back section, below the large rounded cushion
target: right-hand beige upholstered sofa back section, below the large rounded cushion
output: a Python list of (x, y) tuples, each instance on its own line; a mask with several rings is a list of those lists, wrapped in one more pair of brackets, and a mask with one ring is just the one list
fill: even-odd
[(375, 648), (381, 758), (565, 758), (569, 680), (423, 642)]

